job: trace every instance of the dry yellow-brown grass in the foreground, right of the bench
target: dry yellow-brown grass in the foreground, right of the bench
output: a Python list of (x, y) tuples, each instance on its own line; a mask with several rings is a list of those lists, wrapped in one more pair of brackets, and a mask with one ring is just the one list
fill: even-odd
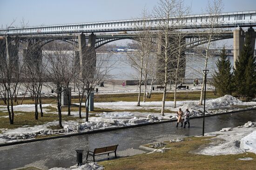
[[(209, 138), (209, 137), (208, 137)], [(105, 170), (246, 170), (255, 169), (256, 154), (206, 156), (189, 153), (201, 145), (207, 145), (207, 137), (185, 138), (183, 142), (169, 143), (172, 149), (163, 153), (140, 154), (99, 162)], [(254, 160), (242, 161), (238, 158), (251, 157)]]

